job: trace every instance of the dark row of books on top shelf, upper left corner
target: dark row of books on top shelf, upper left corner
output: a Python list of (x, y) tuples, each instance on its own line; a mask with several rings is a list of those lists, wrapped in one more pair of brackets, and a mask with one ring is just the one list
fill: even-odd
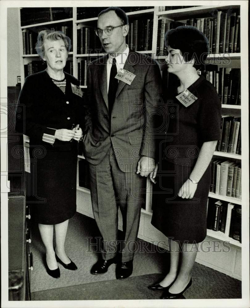
[(72, 7), (25, 7), (20, 10), (21, 26), (73, 17)]

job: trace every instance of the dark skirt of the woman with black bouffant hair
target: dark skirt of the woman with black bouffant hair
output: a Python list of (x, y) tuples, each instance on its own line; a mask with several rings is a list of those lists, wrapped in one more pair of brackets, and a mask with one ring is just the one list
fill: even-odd
[(153, 188), (152, 225), (167, 237), (183, 243), (199, 243), (206, 237), (207, 199), (211, 183), (211, 165), (197, 185), (194, 198), (177, 196), (193, 167), (162, 161)]

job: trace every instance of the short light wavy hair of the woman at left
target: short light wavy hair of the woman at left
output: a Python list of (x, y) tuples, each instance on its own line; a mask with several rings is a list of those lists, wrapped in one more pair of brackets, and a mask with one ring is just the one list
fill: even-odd
[(65, 47), (67, 51), (69, 52), (71, 49), (71, 40), (62, 31), (42, 30), (38, 33), (37, 42), (35, 44), (35, 50), (41, 58), (43, 58), (45, 54), (44, 40), (46, 39), (52, 40), (52, 41), (62, 39), (65, 43)]

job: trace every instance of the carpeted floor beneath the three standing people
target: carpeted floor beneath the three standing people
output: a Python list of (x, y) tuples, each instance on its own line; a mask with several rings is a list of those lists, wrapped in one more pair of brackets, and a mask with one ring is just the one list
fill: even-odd
[[(103, 275), (92, 275), (90, 268), (98, 259), (93, 237), (98, 236), (100, 234), (94, 219), (76, 213), (69, 221), (65, 247), (78, 270), (69, 271), (59, 264), (61, 276), (55, 279), (46, 273), (43, 263), (44, 246), (37, 226), (33, 225), (31, 251), (34, 270), (31, 271), (31, 299), (160, 298), (159, 292), (148, 290), (147, 286), (168, 272), (169, 253), (138, 239), (140, 250), (135, 253), (134, 270), (130, 278), (116, 280), (115, 264)], [(185, 298), (241, 298), (241, 282), (237, 279), (198, 263), (195, 263), (191, 274), (193, 284), (185, 292)]]

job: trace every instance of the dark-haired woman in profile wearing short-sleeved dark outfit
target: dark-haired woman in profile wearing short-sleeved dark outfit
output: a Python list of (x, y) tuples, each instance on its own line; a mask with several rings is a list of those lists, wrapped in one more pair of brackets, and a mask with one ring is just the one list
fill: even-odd
[(169, 238), (170, 270), (149, 288), (174, 299), (191, 286), (190, 272), (206, 237), (210, 161), (220, 138), (221, 102), (213, 85), (197, 72), (209, 50), (204, 34), (180, 26), (165, 34), (165, 45), (168, 72), (179, 81), (166, 93), (170, 116), (159, 151), (164, 154), (150, 177), (155, 182), (159, 168), (152, 225)]

